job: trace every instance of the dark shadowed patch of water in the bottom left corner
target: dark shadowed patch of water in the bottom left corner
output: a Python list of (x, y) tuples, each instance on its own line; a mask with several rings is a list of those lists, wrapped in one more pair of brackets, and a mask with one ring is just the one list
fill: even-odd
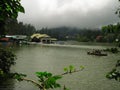
[(14, 90), (15, 81), (12, 79), (0, 81), (0, 90)]

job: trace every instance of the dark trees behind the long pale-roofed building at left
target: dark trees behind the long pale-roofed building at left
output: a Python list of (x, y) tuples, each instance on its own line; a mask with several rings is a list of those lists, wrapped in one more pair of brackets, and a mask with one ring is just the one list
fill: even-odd
[[(14, 19), (9, 19), (9, 23), (6, 24), (6, 30), (8, 35), (27, 35), (30, 36), (36, 32), (36, 29), (31, 24), (23, 24)], [(14, 26), (14, 27), (13, 27)]]

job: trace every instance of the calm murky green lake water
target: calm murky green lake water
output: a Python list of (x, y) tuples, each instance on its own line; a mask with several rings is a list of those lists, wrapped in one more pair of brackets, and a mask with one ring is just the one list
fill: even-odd
[[(16, 50), (17, 63), (12, 71), (25, 73), (28, 78), (36, 80), (35, 72), (48, 71), (54, 74), (63, 73), (63, 68), (81, 65), (85, 69), (72, 75), (66, 75), (59, 83), (70, 90), (120, 90), (120, 83), (105, 78), (120, 58), (119, 54), (108, 53), (108, 56), (90, 56), (86, 52), (93, 48), (106, 46), (24, 46)], [(0, 90), (39, 90), (28, 82), (8, 81)], [(62, 90), (58, 88), (55, 90)]]

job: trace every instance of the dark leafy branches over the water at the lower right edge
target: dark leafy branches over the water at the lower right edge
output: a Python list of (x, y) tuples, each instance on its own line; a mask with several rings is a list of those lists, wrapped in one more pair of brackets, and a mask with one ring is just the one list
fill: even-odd
[(106, 78), (108, 79), (115, 79), (116, 81), (120, 81), (120, 60), (117, 61), (117, 64), (115, 66), (115, 68), (108, 72), (108, 74), (106, 75)]

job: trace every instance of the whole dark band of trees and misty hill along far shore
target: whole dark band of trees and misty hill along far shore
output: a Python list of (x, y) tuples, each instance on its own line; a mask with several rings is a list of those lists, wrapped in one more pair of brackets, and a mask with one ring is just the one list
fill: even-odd
[(120, 40), (120, 23), (103, 26), (101, 29), (86, 29), (73, 27), (42, 28), (37, 30), (31, 24), (18, 22), (16, 19), (8, 19), (5, 29), (7, 35), (27, 35), (34, 33), (47, 34), (58, 40), (75, 40), (79, 42), (115, 42)]

